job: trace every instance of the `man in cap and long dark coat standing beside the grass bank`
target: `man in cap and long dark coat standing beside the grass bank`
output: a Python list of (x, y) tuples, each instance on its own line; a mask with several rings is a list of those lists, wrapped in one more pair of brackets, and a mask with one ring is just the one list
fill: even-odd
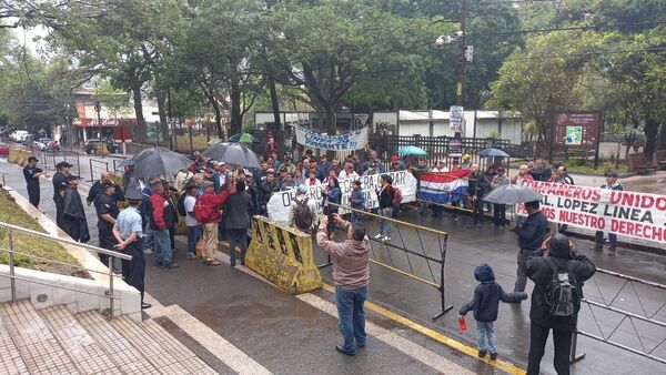
[(69, 174), (67, 176), (68, 188), (62, 197), (62, 222), (63, 231), (72, 237), (72, 240), (85, 243), (90, 241), (90, 232), (88, 231), (88, 221), (85, 220), (85, 209), (83, 201), (79, 194), (77, 186), (79, 185), (79, 176)]

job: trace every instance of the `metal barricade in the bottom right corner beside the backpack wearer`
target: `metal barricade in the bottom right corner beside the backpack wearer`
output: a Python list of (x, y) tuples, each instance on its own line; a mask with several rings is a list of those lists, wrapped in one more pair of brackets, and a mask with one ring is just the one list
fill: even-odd
[[(584, 353), (576, 352), (577, 335), (583, 335), (666, 364), (666, 355), (659, 356), (657, 352), (666, 342), (666, 285), (601, 268), (597, 268), (597, 273), (587, 284), (595, 287), (587, 287), (586, 298), (581, 302), (588, 308), (581, 307), (578, 328), (572, 341), (571, 362), (585, 357)], [(632, 308), (633, 306), (637, 308)], [(591, 320), (594, 323), (592, 330), (596, 328), (598, 333), (584, 331), (589, 328)], [(628, 324), (625, 324), (626, 322)], [(638, 332), (636, 323), (639, 323), (643, 334)], [(629, 330), (626, 330), (627, 327)], [(624, 333), (624, 337), (619, 332)], [(627, 341), (625, 337), (632, 339)]]

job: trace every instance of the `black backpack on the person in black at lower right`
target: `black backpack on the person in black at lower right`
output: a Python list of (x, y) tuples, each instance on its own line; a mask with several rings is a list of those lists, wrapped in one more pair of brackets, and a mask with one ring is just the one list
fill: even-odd
[(553, 280), (546, 286), (544, 298), (548, 313), (554, 317), (574, 316), (581, 306), (581, 290), (572, 273), (575, 262), (568, 262), (565, 273), (557, 271), (557, 266), (548, 256), (544, 257), (544, 260), (553, 271)]

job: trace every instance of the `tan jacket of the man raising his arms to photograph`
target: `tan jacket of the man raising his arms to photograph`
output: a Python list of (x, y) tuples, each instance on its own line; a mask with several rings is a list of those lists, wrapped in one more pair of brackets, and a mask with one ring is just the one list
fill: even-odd
[[(349, 222), (343, 222), (342, 227), (351, 230)], [(360, 288), (367, 286), (370, 281), (370, 240), (345, 240), (336, 243), (326, 236), (326, 226), (320, 225), (316, 233), (316, 244), (333, 257), (333, 281), (336, 286)]]

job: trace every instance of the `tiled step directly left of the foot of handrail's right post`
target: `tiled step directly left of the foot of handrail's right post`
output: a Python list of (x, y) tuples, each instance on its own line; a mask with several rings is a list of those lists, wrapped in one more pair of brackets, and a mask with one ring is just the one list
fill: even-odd
[(120, 332), (95, 311), (75, 315), (79, 324), (125, 374), (158, 374), (158, 369)]

